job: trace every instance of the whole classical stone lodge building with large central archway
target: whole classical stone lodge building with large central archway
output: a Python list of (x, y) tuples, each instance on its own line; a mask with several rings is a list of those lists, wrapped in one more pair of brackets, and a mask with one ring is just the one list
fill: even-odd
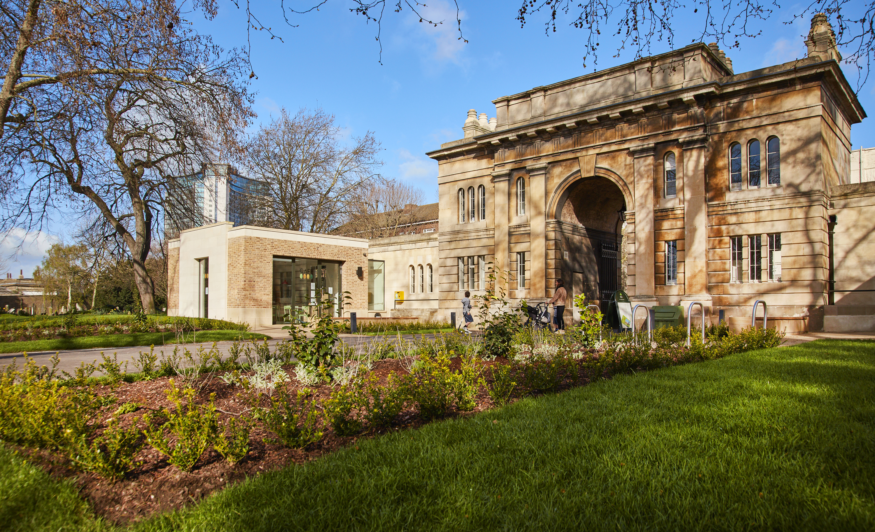
[(875, 183), (850, 177), (865, 111), (826, 18), (806, 44), (806, 59), (733, 73), (699, 43), (502, 96), (491, 120), (469, 111), (465, 137), (428, 153), (440, 310), (494, 261), (528, 302), (562, 278), (593, 300), (623, 288), (749, 320), (763, 299), (810, 330), (875, 328)]

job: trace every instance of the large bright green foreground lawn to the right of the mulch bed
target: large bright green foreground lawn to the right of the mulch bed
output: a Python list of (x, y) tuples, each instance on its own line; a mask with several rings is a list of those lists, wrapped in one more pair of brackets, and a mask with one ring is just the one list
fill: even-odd
[(873, 424), (875, 342), (819, 340), (362, 440), (135, 528), (872, 530)]

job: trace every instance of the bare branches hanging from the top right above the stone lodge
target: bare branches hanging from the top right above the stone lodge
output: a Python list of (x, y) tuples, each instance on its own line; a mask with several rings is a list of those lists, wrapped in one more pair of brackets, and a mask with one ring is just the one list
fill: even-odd
[[(639, 59), (662, 41), (674, 48), (676, 31), (682, 30), (676, 22), (682, 14), (684, 20), (697, 19), (701, 25), (692, 42), (713, 40), (726, 48), (738, 48), (739, 38), (760, 36), (760, 28), (780, 9), (778, 4), (762, 0), (522, 0), (516, 19), (525, 25), (527, 17), (546, 17), (544, 31), (548, 35), (556, 31), (556, 23), (563, 18), (568, 25), (583, 30), (586, 66), (590, 58), (598, 64), (601, 41), (612, 36), (620, 37), (613, 57), (619, 57), (628, 47)], [(858, 90), (862, 88), (875, 59), (875, 1), (814, 0), (790, 9), (791, 20), (784, 24), (816, 13), (826, 15), (837, 45), (844, 51), (844, 63), (858, 67)]]

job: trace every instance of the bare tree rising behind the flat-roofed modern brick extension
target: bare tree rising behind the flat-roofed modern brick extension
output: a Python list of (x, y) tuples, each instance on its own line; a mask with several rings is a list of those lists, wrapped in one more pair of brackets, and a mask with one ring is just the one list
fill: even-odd
[(345, 220), (354, 193), (382, 165), (379, 151), (370, 131), (350, 146), (341, 144), (334, 116), (322, 109), (301, 109), (295, 116), (282, 109), (245, 145), (243, 165), (268, 189), (250, 197), (248, 216), (266, 227), (328, 233)]

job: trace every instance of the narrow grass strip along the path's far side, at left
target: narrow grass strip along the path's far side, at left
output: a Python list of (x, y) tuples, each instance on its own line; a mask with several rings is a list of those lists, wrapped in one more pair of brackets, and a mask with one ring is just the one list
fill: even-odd
[[(197, 335), (186, 332), (181, 343), (221, 342), (233, 339), (269, 339), (269, 336), (256, 332), (242, 331), (199, 331)], [(91, 349), (93, 347), (131, 347), (165, 346), (176, 343), (173, 332), (133, 332), (130, 334), (105, 334), (102, 336), (80, 336), (63, 339), (35, 339), (24, 342), (0, 342), (0, 353), (37, 353), (39, 351), (65, 351), (67, 349)]]

